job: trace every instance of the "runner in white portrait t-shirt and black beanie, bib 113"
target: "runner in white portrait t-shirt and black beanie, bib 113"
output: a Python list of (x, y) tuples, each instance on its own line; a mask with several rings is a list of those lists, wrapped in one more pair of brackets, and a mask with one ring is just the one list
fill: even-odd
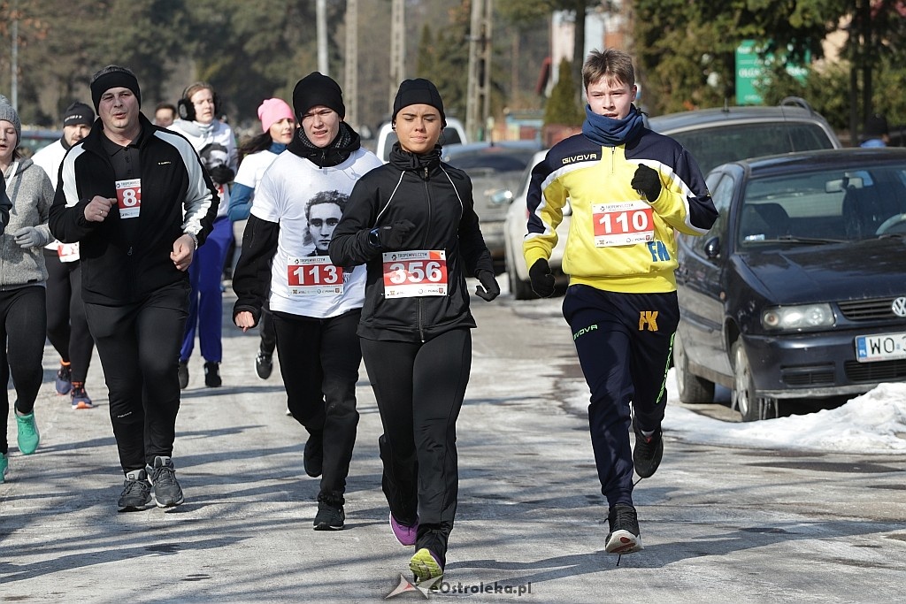
[[(356, 181), (381, 160), (361, 148), (359, 135), (343, 121), (342, 91), (330, 77), (305, 76), (293, 105), (302, 128), (255, 188), (233, 275), (233, 321), (244, 331), (255, 327), (270, 288), (287, 407), (309, 434), (305, 472), (321, 476), (314, 530), (339, 531), (359, 423), (356, 330), (365, 267), (334, 266), (324, 240)], [(315, 214), (321, 206), (333, 214)]]

